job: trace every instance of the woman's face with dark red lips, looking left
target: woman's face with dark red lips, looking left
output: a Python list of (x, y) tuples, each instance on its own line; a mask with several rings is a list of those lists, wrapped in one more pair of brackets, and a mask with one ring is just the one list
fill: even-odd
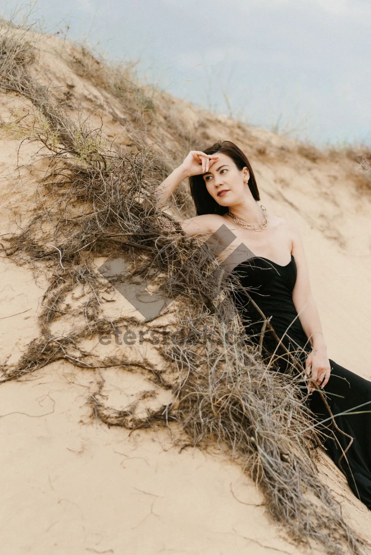
[(206, 189), (221, 206), (233, 206), (243, 200), (245, 188), (249, 188), (249, 170), (239, 170), (226, 154), (216, 153), (217, 158), (207, 173), (203, 174)]

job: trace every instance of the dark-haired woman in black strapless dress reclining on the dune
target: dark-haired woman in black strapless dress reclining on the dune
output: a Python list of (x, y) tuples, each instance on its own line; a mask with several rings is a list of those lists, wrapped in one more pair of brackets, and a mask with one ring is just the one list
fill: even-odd
[(304, 366), (310, 408), (327, 426), (327, 452), (371, 509), (371, 382), (328, 359), (299, 229), (266, 213), (249, 160), (234, 143), (190, 152), (157, 189), (159, 208), (187, 176), (197, 216), (182, 229), (216, 244), (219, 262), (249, 288), (235, 302), (266, 362), (283, 372)]

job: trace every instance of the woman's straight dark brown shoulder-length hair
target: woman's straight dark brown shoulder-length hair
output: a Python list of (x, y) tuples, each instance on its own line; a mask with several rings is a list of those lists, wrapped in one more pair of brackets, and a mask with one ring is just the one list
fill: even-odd
[[(242, 170), (246, 166), (250, 174), (248, 184), (251, 194), (255, 200), (260, 200), (258, 185), (256, 185), (253, 168), (251, 168), (250, 162), (246, 155), (240, 148), (238, 148), (237, 145), (229, 140), (219, 141), (214, 143), (212, 147), (205, 148), (203, 152), (205, 154), (215, 154), (217, 152), (226, 154), (233, 160), (239, 170)], [(207, 191), (206, 183), (202, 174), (192, 175), (189, 178), (189, 184), (192, 199), (194, 200), (196, 206), (197, 216), (201, 216), (202, 214), (219, 214), (222, 216), (227, 213), (228, 207), (218, 204), (216, 200), (212, 198), (209, 191)]]

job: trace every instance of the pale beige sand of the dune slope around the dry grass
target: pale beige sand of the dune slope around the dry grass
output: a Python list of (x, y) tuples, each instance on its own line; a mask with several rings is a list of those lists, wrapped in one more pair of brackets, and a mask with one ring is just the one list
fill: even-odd
[[(101, 105), (92, 124), (102, 117), (103, 131), (111, 140), (126, 126), (126, 134), (116, 140), (131, 148), (135, 125), (130, 114), (110, 93), (71, 68), (66, 60), (72, 47), (61, 47), (55, 38), (41, 38), (39, 46), (37, 71), (55, 87), (56, 97), (70, 91), (65, 98), (71, 116), (77, 106), (88, 113)], [(157, 140), (170, 164), (184, 152), (186, 136), (197, 146), (231, 139), (246, 150), (268, 212), (300, 225), (329, 357), (371, 379), (371, 195), (357, 153), (320, 153), (162, 93), (154, 94), (154, 102), (156, 118), (148, 119), (142, 142)], [(21, 144), (14, 123), (27, 110), (32, 107), (26, 100), (1, 95), (0, 116), (8, 125), (0, 130), (0, 235), (27, 221), (42, 176), (36, 145)], [(17, 360), (38, 335), (36, 316), (46, 286), (46, 277), (31, 265), (19, 268), (11, 257), (1, 258), (1, 360)], [(108, 313), (133, 312), (122, 298), (120, 302), (107, 305)], [(96, 339), (90, 346), (93, 352), (105, 349)], [(108, 349), (124, 347), (133, 359), (156, 361), (156, 352), (145, 343), (111, 345), (107, 354)], [(102, 372), (103, 393), (115, 407), (125, 407), (150, 387), (138, 368)], [(3, 553), (303, 552), (265, 514), (253, 482), (216, 447), (180, 453), (169, 430), (135, 431), (129, 436), (126, 430), (108, 428), (93, 418), (87, 401), (101, 377), (97, 371), (63, 362), (1, 385)], [(174, 438), (180, 433), (176, 426), (170, 430)], [(343, 513), (371, 539), (368, 510), (354, 498), (331, 461), (324, 460), (320, 468)]]

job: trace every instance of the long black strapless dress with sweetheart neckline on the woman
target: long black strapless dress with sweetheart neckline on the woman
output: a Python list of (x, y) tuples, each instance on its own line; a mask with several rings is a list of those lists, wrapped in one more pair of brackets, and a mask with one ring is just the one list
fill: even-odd
[[(252, 253), (251, 253), (252, 254)], [(251, 256), (234, 266), (232, 273), (248, 289), (251, 299), (264, 313), (271, 316), (270, 324), (286, 349), (294, 351), (301, 365), (311, 351), (311, 345), (301, 327), (293, 302), (296, 281), (294, 256), (286, 266), (269, 259)], [(243, 291), (235, 291), (234, 301), (243, 318), (246, 334), (259, 343), (263, 317)], [(275, 352), (274, 365), (281, 372), (293, 371), (292, 357), (279, 347), (271, 331), (266, 330), (263, 341), (263, 358), (266, 362)], [(290, 362), (291, 360), (291, 362)], [(330, 360), (331, 375), (324, 387), (327, 402), (337, 426), (353, 437), (353, 443), (339, 465), (339, 458), (349, 445), (349, 438), (336, 430), (331, 420), (325, 423), (325, 441), (328, 455), (347, 476), (350, 488), (371, 509), (371, 381), (353, 374)], [(329, 412), (318, 391), (310, 395), (310, 408), (318, 422), (329, 418)], [(358, 412), (358, 413), (357, 413)], [(344, 414), (345, 413), (345, 414)], [(323, 431), (323, 425), (321, 426)]]

